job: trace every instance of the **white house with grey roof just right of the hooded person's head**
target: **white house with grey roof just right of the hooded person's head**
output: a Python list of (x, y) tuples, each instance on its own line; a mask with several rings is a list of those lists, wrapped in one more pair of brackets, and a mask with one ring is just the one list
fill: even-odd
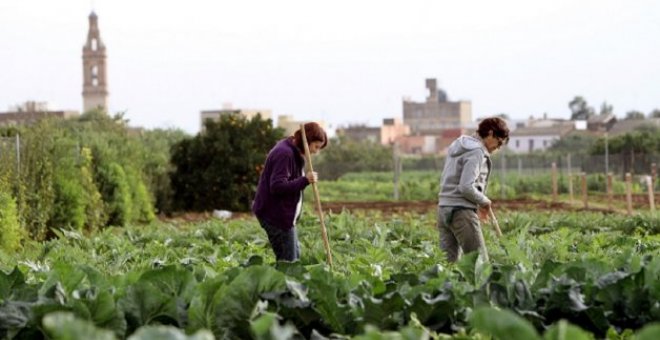
[(519, 127), (511, 131), (507, 148), (515, 153), (547, 150), (552, 144), (574, 130), (570, 124), (548, 127)]

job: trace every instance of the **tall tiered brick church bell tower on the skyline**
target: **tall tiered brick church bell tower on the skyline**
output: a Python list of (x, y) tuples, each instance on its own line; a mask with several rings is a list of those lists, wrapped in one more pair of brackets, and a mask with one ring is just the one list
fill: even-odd
[(108, 109), (108, 81), (105, 70), (105, 45), (101, 41), (98, 17), (89, 15), (87, 42), (83, 46), (83, 112)]

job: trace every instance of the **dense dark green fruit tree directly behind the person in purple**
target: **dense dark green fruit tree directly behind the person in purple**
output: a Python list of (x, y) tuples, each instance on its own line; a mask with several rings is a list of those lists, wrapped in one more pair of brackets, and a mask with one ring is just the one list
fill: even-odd
[(284, 136), (270, 119), (223, 115), (172, 148), (174, 206), (179, 210), (250, 209), (268, 151)]

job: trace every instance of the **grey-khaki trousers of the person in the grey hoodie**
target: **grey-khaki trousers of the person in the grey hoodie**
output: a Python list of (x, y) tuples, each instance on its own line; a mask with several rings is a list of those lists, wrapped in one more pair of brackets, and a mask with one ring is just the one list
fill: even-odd
[(462, 253), (484, 247), (484, 236), (477, 213), (472, 209), (438, 207), (440, 248), (449, 262), (456, 262)]

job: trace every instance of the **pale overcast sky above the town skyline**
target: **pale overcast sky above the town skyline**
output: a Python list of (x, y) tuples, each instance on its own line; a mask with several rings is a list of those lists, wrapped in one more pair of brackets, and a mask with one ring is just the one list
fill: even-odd
[(426, 78), (474, 118), (568, 118), (576, 95), (660, 108), (656, 0), (0, 0), (0, 111), (82, 109), (92, 9), (110, 111), (146, 128), (196, 133), (223, 103), (377, 125)]

